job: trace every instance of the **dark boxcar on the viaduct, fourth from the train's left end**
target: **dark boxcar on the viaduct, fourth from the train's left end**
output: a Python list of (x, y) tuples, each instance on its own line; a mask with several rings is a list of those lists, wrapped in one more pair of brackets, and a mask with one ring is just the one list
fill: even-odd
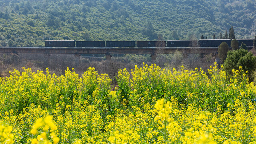
[(137, 41), (138, 48), (166, 47), (166, 41)]

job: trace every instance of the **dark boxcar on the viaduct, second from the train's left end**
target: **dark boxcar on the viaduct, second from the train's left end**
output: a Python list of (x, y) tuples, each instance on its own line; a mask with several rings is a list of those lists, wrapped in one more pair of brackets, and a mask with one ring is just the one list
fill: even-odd
[(78, 48), (102, 48), (105, 47), (105, 41), (76, 41), (76, 47)]

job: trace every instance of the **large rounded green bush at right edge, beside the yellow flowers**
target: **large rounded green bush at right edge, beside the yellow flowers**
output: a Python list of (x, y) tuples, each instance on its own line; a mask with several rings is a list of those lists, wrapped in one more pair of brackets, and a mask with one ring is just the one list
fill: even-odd
[(239, 66), (242, 66), (244, 71), (251, 74), (256, 68), (256, 56), (245, 49), (228, 51), (228, 56), (224, 62), (224, 70), (231, 75), (233, 69), (239, 70)]

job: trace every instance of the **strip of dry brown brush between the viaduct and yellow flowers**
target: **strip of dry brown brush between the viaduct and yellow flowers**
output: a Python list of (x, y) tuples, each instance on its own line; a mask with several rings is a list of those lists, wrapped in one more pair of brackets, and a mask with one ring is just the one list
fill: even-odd
[(116, 84), (115, 76), (119, 69), (134, 68), (134, 65), (142, 66), (142, 63), (150, 65), (155, 63), (162, 68), (180, 68), (184, 65), (188, 69), (202, 67), (207, 70), (214, 64), (214, 56), (200, 54), (156, 54), (156, 60), (151, 61), (150, 55), (113, 55), (111, 60), (105, 60), (104, 57), (75, 56), (73, 54), (0, 54), (0, 76), (9, 76), (9, 71), (14, 69), (22, 71), (22, 67), (32, 68), (34, 72), (49, 68), (50, 73), (57, 76), (64, 74), (67, 67), (74, 68), (80, 76), (88, 69), (94, 67), (99, 74), (106, 73)]

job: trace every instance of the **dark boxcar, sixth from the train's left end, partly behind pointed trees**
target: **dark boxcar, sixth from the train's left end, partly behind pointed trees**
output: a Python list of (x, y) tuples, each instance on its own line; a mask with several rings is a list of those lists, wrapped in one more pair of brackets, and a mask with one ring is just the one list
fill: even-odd
[(228, 46), (231, 44), (230, 39), (209, 39), (209, 40), (198, 40), (199, 47), (218, 47), (222, 42), (226, 42)]

